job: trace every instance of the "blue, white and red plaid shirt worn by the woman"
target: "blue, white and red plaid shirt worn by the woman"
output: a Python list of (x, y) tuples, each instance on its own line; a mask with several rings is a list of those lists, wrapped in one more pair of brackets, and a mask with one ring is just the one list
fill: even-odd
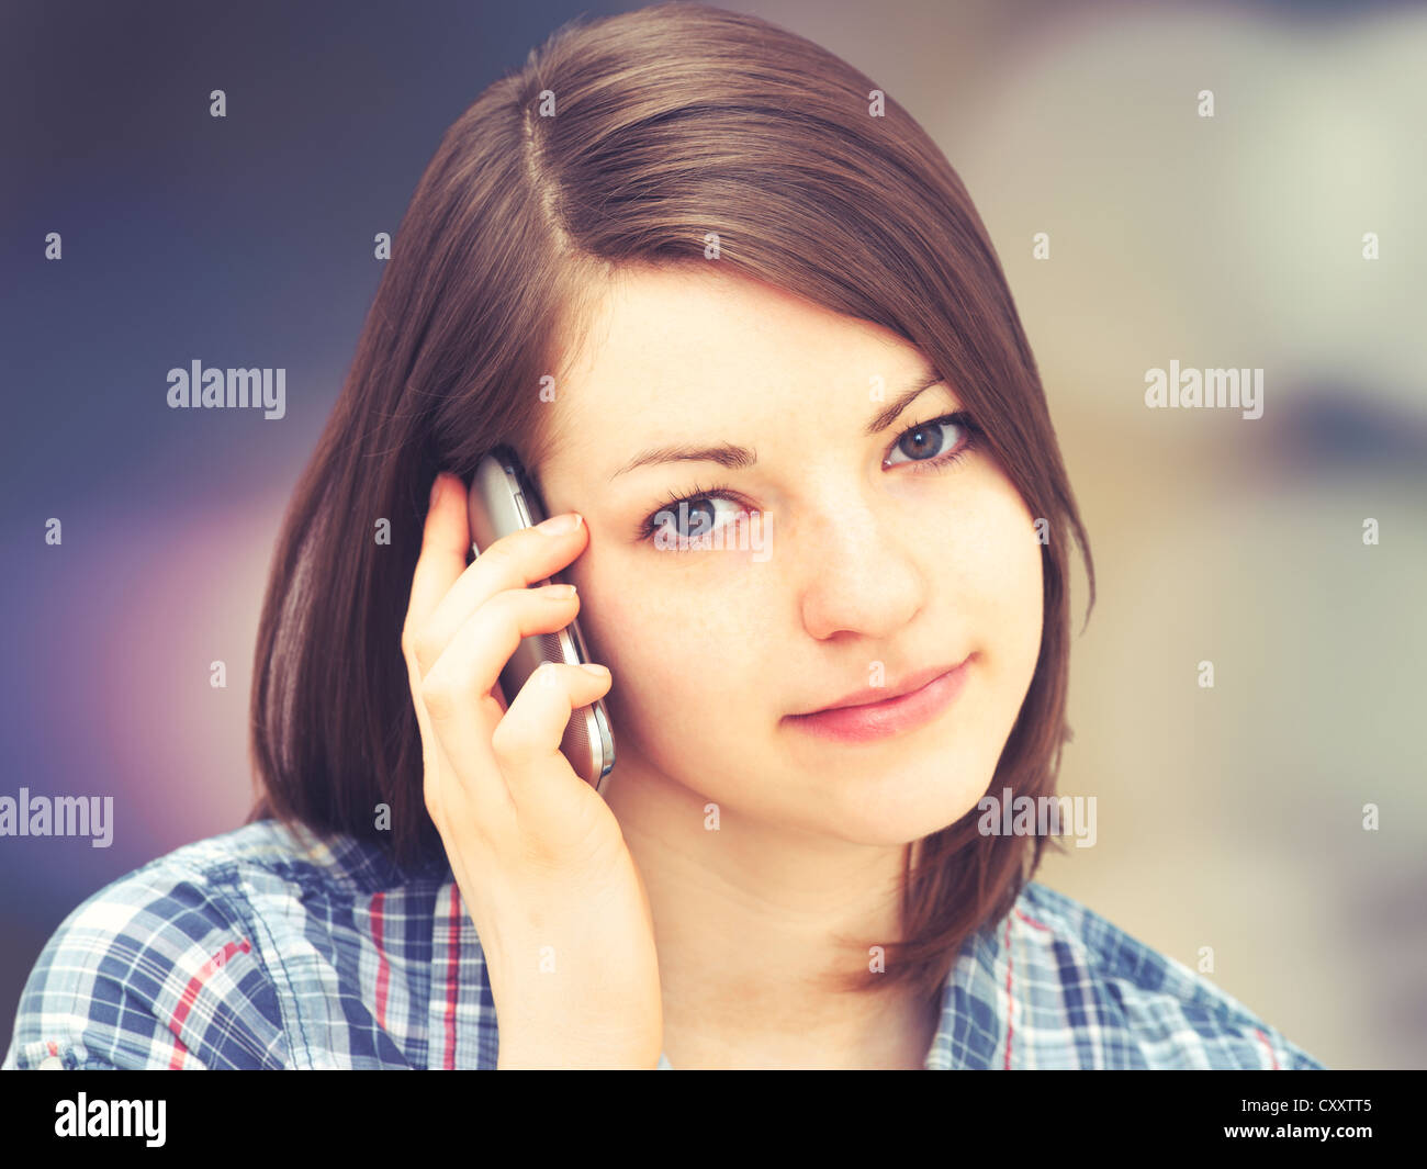
[[(100, 889), (46, 943), (3, 1068), (495, 1068), (445, 858), (258, 821)], [(1323, 1065), (1207, 979), (1029, 884), (970, 938), (928, 1069)], [(659, 1068), (669, 1068), (661, 1058)]]

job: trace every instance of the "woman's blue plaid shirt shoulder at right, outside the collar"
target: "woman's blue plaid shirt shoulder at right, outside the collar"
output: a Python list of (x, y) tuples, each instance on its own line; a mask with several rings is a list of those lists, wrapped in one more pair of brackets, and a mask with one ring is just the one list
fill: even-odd
[(1027, 1021), (1077, 1066), (1323, 1069), (1209, 978), (1066, 894), (1029, 882), (1012, 912)]

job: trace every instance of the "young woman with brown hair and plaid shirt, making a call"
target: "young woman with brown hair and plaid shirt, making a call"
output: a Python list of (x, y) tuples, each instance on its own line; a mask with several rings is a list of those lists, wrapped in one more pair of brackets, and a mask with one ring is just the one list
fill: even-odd
[[(565, 524), (472, 560), (498, 444)], [(567, 26), (397, 236), (273, 570), (253, 816), (66, 919), (6, 1066), (1320, 1066), (977, 808), (1055, 791), (1072, 540), (1093, 602), (906, 111), (751, 16)], [(606, 668), (504, 694), (577, 612)], [(601, 697), (604, 795), (558, 751)]]

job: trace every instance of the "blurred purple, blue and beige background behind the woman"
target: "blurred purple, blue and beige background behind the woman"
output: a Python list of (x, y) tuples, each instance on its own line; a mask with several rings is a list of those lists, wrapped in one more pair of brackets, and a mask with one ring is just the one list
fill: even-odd
[[(0, 6), (0, 795), (113, 795), (116, 819), (110, 848), (0, 838), (0, 1049), (70, 909), (248, 808), (263, 587), (372, 236), (491, 80), (635, 7)], [(1423, 1066), (1427, 10), (722, 7), (920, 120), (1016, 297), (1097, 570), (1060, 784), (1096, 795), (1097, 842), (1039, 879), (1192, 968), (1212, 948), (1329, 1066)], [(284, 367), (287, 417), (167, 408), (194, 358)], [(1263, 368), (1263, 417), (1147, 410), (1172, 360)]]

